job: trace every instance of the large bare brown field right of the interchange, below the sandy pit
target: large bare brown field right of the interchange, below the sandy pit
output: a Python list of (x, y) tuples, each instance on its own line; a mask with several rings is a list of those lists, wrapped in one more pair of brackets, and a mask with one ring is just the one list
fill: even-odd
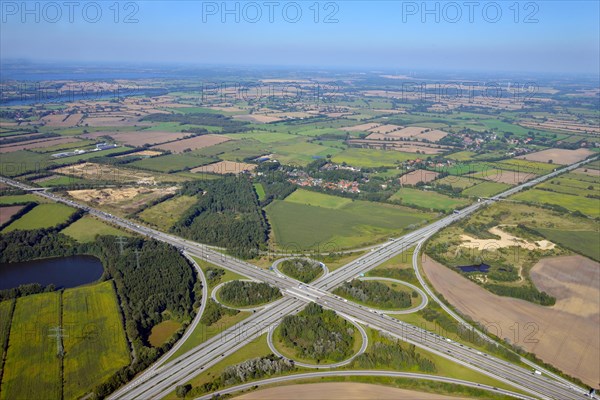
[[(427, 278), (458, 311), (482, 323), (491, 333), (508, 338), (587, 385), (597, 386), (600, 377), (597, 303), (600, 264), (581, 256), (555, 257), (540, 261), (533, 269), (537, 272), (532, 278), (536, 276), (535, 280), (543, 282), (542, 287), (546, 285), (559, 295), (564, 293), (563, 296), (570, 296), (567, 290), (570, 293), (585, 288), (577, 294), (585, 296), (585, 300), (565, 297), (552, 307), (544, 307), (497, 296), (450, 268), (423, 257)], [(566, 283), (560, 282), (563, 274), (570, 275)], [(592, 275), (594, 279), (590, 279)]]

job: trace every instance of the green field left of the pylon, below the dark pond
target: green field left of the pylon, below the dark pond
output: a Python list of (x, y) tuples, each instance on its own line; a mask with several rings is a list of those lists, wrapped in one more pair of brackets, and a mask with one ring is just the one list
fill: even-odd
[(60, 322), (60, 294), (17, 299), (0, 398), (60, 399), (60, 360), (50, 328)]

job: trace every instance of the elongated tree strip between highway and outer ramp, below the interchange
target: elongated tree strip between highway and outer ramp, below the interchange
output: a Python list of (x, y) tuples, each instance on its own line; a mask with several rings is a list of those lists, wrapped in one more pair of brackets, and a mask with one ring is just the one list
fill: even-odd
[(176, 394), (178, 397), (185, 397), (187, 394), (189, 394), (190, 397), (198, 397), (204, 393), (217, 391), (224, 386), (231, 386), (266, 376), (283, 374), (285, 372), (294, 371), (295, 369), (296, 367), (294, 366), (293, 361), (277, 358), (271, 354), (266, 357), (252, 358), (236, 365), (230, 365), (226, 367), (216, 379), (195, 388), (192, 388), (191, 386), (182, 386), (181, 389), (176, 389)]

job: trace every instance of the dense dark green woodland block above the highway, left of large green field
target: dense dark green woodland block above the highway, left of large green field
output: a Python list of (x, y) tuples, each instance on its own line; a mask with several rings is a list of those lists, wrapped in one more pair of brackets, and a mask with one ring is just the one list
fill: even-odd
[(203, 190), (173, 230), (192, 240), (226, 247), (237, 257), (258, 254), (266, 245), (269, 227), (252, 183), (246, 177), (225, 177), (204, 182)]

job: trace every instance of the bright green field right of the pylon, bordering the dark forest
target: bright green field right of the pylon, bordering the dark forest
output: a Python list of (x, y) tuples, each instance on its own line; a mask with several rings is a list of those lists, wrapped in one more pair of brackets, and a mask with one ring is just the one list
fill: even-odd
[(129, 364), (129, 348), (112, 282), (63, 295), (64, 398), (75, 399)]

